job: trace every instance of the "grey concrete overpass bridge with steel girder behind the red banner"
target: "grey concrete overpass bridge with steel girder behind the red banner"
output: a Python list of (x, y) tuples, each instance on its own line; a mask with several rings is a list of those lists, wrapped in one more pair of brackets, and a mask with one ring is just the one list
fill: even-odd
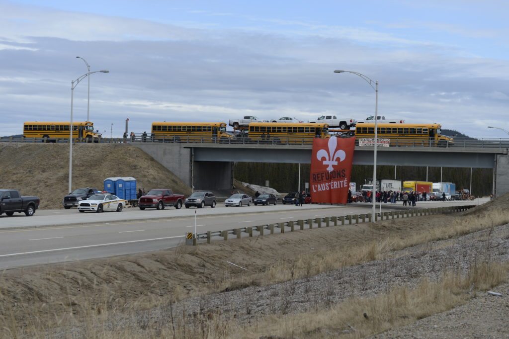
[[(496, 195), (509, 192), (509, 142), (379, 147), (378, 165), (493, 168)], [(132, 143), (196, 189), (231, 189), (234, 162), (310, 163), (312, 145)], [(355, 147), (353, 164), (372, 165), (373, 147)]]

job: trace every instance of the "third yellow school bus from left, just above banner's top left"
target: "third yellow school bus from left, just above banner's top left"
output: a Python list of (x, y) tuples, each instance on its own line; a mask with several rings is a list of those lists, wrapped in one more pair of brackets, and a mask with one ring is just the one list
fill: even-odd
[(266, 144), (312, 144), (314, 138), (328, 138), (329, 125), (317, 123), (249, 123), (251, 142)]

